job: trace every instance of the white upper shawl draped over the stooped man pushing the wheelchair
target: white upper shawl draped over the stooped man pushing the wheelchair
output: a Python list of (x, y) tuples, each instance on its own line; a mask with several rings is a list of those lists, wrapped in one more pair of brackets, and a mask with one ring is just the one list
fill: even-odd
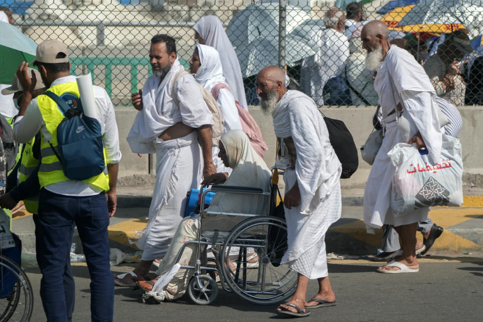
[(326, 123), (314, 101), (298, 91), (287, 91), (272, 116), (275, 135), (292, 137), (295, 143), (301, 213), (310, 215), (331, 193), (342, 172)]

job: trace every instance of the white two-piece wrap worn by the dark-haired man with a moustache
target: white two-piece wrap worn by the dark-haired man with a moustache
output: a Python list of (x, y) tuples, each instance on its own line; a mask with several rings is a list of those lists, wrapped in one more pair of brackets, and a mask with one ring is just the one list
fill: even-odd
[(171, 82), (183, 67), (176, 60), (159, 84), (159, 77), (150, 76), (142, 93), (143, 109), (128, 135), (131, 150), (136, 153), (156, 153), (156, 185), (149, 207), (149, 221), (136, 241), (144, 250), (142, 260), (163, 258), (171, 239), (183, 218), (186, 193), (201, 182), (201, 152), (197, 132), (169, 141), (158, 136), (178, 122), (198, 128), (213, 124), (200, 88), (192, 75), (179, 78), (174, 91), (180, 106), (173, 102)]

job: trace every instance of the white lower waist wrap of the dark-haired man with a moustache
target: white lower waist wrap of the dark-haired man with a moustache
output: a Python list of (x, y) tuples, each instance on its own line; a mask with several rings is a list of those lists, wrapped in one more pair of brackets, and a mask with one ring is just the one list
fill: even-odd
[(135, 245), (142, 260), (163, 258), (178, 224), (183, 219), (186, 193), (199, 188), (202, 178), (201, 149), (193, 132), (182, 138), (156, 140), (156, 185), (149, 220)]

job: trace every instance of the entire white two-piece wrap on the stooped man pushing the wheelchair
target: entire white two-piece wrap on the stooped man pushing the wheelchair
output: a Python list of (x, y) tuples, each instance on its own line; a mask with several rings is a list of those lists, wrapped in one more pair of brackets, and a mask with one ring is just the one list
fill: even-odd
[(329, 141), (326, 123), (315, 103), (298, 91), (287, 91), (272, 113), (275, 135), (292, 137), (295, 170), (284, 175), (286, 191), (298, 182), (300, 204), (285, 208), (288, 250), (282, 263), (310, 279), (327, 276), (325, 234), (341, 217), (342, 166)]

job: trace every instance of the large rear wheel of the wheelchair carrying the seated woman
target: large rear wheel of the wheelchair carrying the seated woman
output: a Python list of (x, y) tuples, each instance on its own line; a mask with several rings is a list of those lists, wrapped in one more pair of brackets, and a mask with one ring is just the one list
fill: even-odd
[(287, 247), (286, 232), (284, 220), (257, 216), (239, 223), (229, 233), (221, 254), (221, 271), (238, 296), (269, 305), (293, 295), (297, 273), (280, 264)]

